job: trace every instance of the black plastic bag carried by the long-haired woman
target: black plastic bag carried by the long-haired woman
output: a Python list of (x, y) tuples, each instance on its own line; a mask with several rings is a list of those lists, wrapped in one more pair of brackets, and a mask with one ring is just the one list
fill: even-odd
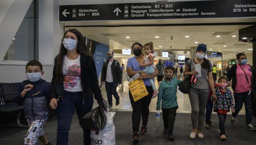
[(79, 124), (83, 128), (91, 130), (102, 130), (105, 127), (107, 121), (105, 112), (107, 112), (105, 105), (100, 104), (98, 107), (91, 110), (83, 117), (79, 118)]

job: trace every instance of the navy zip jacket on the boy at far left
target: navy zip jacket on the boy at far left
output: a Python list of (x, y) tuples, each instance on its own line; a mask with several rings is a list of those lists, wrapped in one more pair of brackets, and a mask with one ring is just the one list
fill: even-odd
[[(32, 84), (34, 88), (28, 91), (25, 97), (21, 97), (21, 92), (27, 84)], [(27, 119), (41, 120), (49, 116), (49, 91), (50, 83), (45, 80), (38, 80), (37, 82), (30, 82), (24, 80), (18, 89), (14, 101), (23, 105), (24, 114)]]

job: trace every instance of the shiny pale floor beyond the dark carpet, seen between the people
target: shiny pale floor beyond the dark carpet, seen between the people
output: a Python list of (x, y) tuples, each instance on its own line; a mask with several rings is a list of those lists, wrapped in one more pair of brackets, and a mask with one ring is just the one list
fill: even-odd
[[(120, 96), (120, 104), (118, 106), (115, 105), (115, 98), (113, 97), (113, 111), (132, 111), (132, 105), (129, 99), (129, 87), (128, 87), (128, 81), (124, 81), (123, 83), (123, 90), (121, 89), (121, 85), (120, 87), (117, 87), (117, 92)], [(156, 87), (158, 88), (158, 84), (156, 83)], [(232, 88), (229, 87), (231, 90)], [(107, 100), (107, 96), (106, 96), (106, 92), (105, 92), (105, 88), (102, 87), (102, 95), (103, 98), (105, 100)], [(188, 94), (183, 94), (181, 93), (179, 90), (177, 90), (177, 102), (178, 102), (178, 106), (179, 109), (177, 109), (177, 112), (185, 112), (185, 113), (190, 113), (191, 112), (191, 105), (190, 105), (190, 101), (188, 98)], [(151, 100), (151, 104), (149, 106), (150, 112), (155, 112), (156, 109), (156, 103), (157, 103), (157, 97)], [(97, 102), (94, 101), (94, 107), (97, 106)], [(215, 113), (215, 112), (213, 112)], [(230, 112), (228, 113), (230, 114)], [(245, 107), (243, 106), (243, 108), (241, 109), (241, 111), (239, 112), (239, 114), (245, 114)]]

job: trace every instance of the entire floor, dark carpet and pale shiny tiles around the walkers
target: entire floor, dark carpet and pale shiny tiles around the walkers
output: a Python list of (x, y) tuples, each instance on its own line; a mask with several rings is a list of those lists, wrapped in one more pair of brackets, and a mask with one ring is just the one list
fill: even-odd
[[(116, 111), (116, 116), (113, 122), (116, 127), (116, 145), (132, 145), (132, 106), (128, 96), (128, 82), (124, 82), (124, 91), (117, 88), (120, 95), (120, 105), (113, 106), (112, 111)], [(105, 99), (106, 93), (102, 88), (102, 95)], [(191, 131), (191, 119), (190, 112), (191, 106), (188, 98), (188, 94), (182, 94), (177, 91), (177, 101), (179, 109), (177, 110), (177, 117), (175, 121), (173, 135), (175, 141), (168, 141), (166, 135), (162, 134), (163, 122), (155, 120), (155, 108), (157, 98), (152, 99), (150, 104), (150, 115), (148, 121), (147, 135), (141, 135), (139, 145), (256, 145), (256, 132), (245, 129), (245, 115), (238, 115), (237, 121), (231, 124), (229, 121), (230, 115), (227, 116), (225, 123), (227, 141), (220, 141), (218, 135), (218, 116), (214, 113), (212, 115), (213, 127), (211, 129), (203, 129), (204, 139), (189, 138)], [(113, 98), (113, 104), (115, 99)], [(97, 107), (97, 102), (94, 101), (94, 107)], [(125, 112), (124, 112), (125, 111)], [(241, 110), (240, 114), (244, 114), (245, 109)], [(253, 117), (253, 123), (256, 124), (255, 117)], [(56, 145), (56, 113), (52, 112), (50, 118), (44, 126), (45, 134), (52, 145)], [(27, 127), (0, 127), (0, 145), (21, 145), (23, 143), (24, 136), (26, 134)], [(83, 131), (79, 126), (79, 121), (74, 113), (72, 118), (72, 125), (69, 131), (69, 145), (82, 145)], [(37, 143), (41, 145), (41, 143)]]

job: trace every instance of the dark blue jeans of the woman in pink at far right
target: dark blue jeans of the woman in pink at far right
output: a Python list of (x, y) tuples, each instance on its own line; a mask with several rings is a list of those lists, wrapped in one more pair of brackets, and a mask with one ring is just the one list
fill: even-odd
[(236, 112), (232, 113), (233, 117), (236, 117), (239, 111), (243, 107), (243, 103), (245, 103), (245, 118), (246, 124), (252, 123), (252, 97), (248, 95), (249, 92), (244, 93), (233, 93), (235, 99), (235, 110)]

